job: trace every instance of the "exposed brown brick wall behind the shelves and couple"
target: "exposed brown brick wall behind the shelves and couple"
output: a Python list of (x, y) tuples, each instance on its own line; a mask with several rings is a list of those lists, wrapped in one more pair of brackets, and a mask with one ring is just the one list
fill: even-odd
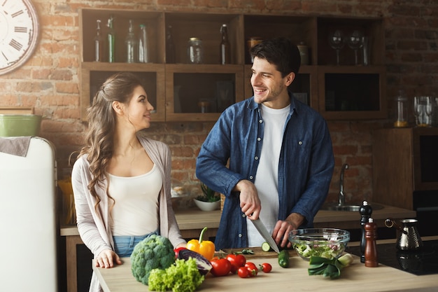
[[(438, 92), (438, 4), (434, 0), (32, 0), (41, 22), (41, 41), (31, 60), (0, 76), (0, 106), (34, 106), (45, 116), (41, 137), (57, 148), (59, 168), (80, 148), (85, 125), (80, 121), (78, 8), (135, 8), (229, 13), (382, 16), (386, 27), (387, 98), (399, 88), (409, 98)], [(415, 3), (413, 3), (415, 2)], [(330, 199), (345, 173), (346, 200), (372, 198), (371, 132), (387, 121), (330, 122), (336, 167)], [(171, 146), (173, 176), (197, 183), (195, 158), (211, 123), (157, 123), (151, 137)]]

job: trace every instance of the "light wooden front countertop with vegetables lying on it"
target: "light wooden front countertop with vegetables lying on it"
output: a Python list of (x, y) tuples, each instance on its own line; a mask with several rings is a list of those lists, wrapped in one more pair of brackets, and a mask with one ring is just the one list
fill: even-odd
[[(341, 272), (339, 279), (330, 280), (322, 276), (309, 276), (309, 262), (290, 253), (290, 267), (284, 269), (274, 255), (264, 258), (250, 258), (256, 265), (271, 263), (269, 274), (259, 272), (257, 277), (241, 279), (236, 274), (226, 277), (207, 277), (197, 291), (437, 291), (436, 274), (416, 276), (393, 267), (365, 267), (358, 256), (354, 263)], [(94, 267), (93, 270), (104, 292), (146, 292), (148, 287), (132, 276), (129, 258), (122, 258), (123, 264), (111, 269)]]

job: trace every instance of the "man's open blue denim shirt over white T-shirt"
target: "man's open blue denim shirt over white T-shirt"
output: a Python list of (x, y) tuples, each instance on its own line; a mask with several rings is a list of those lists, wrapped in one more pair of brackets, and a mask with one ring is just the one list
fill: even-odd
[[(199, 152), (198, 179), (226, 197), (216, 235), (217, 249), (248, 246), (246, 217), (239, 193), (232, 189), (242, 179), (254, 182), (263, 131), (259, 105), (251, 97), (222, 113)], [(299, 213), (306, 218), (300, 228), (312, 227), (313, 217), (327, 197), (333, 168), (327, 123), (318, 112), (291, 97), (278, 161), (278, 220)]]

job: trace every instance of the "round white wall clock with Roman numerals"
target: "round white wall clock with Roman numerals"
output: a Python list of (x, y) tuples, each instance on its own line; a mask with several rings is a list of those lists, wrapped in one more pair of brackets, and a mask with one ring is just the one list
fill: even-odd
[(0, 74), (6, 74), (29, 60), (38, 43), (38, 16), (31, 1), (2, 0), (0, 27)]

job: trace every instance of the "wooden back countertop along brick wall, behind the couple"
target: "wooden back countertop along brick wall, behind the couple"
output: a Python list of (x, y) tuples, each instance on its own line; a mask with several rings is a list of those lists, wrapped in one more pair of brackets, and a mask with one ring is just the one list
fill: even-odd
[[(220, 210), (200, 211), (197, 208), (177, 210), (175, 212), (176, 221), (180, 230), (194, 230), (199, 234), (199, 230), (207, 227), (209, 230), (219, 228)], [(383, 226), (386, 218), (414, 218), (416, 211), (386, 206), (383, 209), (375, 210), (372, 213), (374, 221), (379, 226)], [(350, 211), (325, 211), (320, 210), (314, 218), (316, 228), (360, 228), (360, 214)], [(62, 226), (61, 236), (79, 235), (76, 225)], [(211, 235), (207, 235), (211, 236)]]

